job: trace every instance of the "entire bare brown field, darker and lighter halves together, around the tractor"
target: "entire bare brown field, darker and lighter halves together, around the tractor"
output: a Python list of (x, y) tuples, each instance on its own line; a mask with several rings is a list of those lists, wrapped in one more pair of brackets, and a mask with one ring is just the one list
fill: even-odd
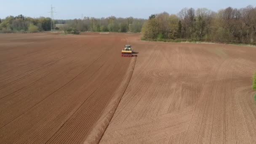
[(255, 47), (0, 35), (0, 143), (256, 143), (255, 70)]

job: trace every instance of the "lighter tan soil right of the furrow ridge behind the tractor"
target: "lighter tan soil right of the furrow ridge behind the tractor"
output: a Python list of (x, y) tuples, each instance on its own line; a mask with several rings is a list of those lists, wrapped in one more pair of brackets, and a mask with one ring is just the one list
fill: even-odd
[(256, 143), (256, 48), (128, 37), (138, 57), (101, 143)]

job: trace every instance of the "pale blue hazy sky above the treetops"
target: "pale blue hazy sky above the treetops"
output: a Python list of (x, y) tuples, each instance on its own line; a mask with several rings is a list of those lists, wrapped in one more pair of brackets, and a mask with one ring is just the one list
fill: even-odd
[(256, 7), (256, 0), (0, 0), (0, 18), (23, 14), (30, 17), (50, 17), (51, 4), (57, 13), (54, 19), (89, 17), (148, 18), (150, 14), (166, 11), (178, 13), (182, 8), (208, 8), (218, 11), (229, 6)]

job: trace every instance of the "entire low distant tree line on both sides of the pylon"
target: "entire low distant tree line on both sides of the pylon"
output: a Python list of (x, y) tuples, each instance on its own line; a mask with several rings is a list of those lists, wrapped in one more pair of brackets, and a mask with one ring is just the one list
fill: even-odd
[[(83, 19), (55, 20), (56, 30), (70, 31), (91, 31), (91, 32), (141, 32), (146, 19), (84, 17)], [(51, 18), (31, 18), (23, 15), (8, 16), (0, 19), (0, 32), (39, 32), (51, 30)]]

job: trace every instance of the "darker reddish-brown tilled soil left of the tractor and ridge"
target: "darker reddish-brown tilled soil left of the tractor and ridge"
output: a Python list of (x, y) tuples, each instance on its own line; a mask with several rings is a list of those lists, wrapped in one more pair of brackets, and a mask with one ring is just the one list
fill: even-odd
[(131, 61), (118, 34), (10, 34), (0, 43), (1, 144), (85, 141)]

